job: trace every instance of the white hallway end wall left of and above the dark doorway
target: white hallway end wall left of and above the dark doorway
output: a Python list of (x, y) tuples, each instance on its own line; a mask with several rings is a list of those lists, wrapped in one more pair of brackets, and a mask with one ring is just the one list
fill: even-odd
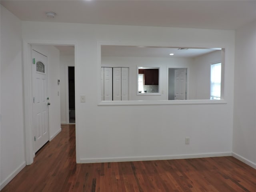
[(68, 123), (68, 66), (75, 66), (74, 55), (60, 54), (60, 121), (62, 124)]

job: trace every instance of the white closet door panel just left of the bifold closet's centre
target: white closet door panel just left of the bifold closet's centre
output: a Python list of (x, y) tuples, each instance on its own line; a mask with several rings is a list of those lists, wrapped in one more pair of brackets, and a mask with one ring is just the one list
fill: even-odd
[(104, 100), (112, 101), (112, 67), (104, 67)]

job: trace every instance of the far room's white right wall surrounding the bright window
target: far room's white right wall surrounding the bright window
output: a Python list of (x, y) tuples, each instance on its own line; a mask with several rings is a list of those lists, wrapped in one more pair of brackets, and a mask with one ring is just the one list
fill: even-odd
[(221, 62), (221, 50), (193, 59), (190, 70), (190, 99), (210, 99), (211, 64)]

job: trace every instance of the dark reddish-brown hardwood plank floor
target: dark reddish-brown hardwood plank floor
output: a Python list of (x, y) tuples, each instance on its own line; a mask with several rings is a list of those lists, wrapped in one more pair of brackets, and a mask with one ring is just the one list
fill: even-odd
[(256, 170), (233, 157), (76, 164), (75, 127), (64, 125), (1, 192), (42, 191), (256, 192)]

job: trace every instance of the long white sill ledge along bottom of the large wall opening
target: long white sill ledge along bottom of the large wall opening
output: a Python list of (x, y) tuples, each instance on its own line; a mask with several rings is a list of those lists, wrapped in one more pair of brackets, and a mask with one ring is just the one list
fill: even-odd
[(134, 100), (101, 101), (98, 105), (188, 105), (188, 104), (227, 104), (225, 100)]

